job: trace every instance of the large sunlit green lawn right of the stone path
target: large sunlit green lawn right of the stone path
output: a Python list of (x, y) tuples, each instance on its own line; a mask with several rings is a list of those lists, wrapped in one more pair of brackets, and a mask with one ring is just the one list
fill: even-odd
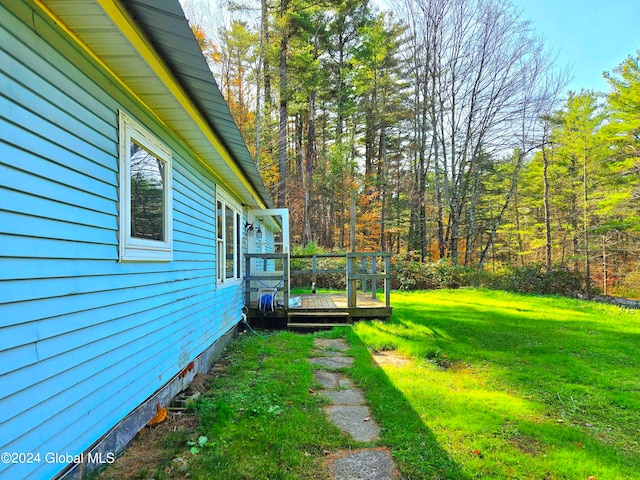
[[(408, 478), (640, 478), (640, 312), (464, 289), (392, 304), (349, 336)], [(374, 350), (413, 362), (374, 368)]]

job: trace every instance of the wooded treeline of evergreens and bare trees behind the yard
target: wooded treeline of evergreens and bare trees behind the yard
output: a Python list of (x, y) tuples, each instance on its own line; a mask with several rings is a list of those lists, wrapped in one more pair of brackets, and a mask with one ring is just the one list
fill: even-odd
[(184, 6), (294, 242), (640, 277), (638, 57), (563, 97), (507, 0)]

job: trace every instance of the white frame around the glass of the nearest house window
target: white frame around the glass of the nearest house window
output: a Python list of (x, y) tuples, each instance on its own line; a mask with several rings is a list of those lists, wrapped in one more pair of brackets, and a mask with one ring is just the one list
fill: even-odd
[[(173, 182), (171, 150), (149, 130), (122, 111), (119, 126), (119, 215), (118, 240), (121, 262), (169, 262), (173, 260)], [(164, 163), (163, 239), (150, 240), (131, 235), (131, 158), (130, 142), (153, 154)]]

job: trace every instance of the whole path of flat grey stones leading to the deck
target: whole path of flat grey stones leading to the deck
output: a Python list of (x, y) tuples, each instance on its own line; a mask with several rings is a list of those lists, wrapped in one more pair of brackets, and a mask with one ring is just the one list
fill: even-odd
[[(330, 422), (354, 440), (363, 443), (380, 439), (380, 427), (371, 417), (364, 393), (353, 382), (335, 371), (325, 369), (347, 368), (353, 357), (345, 352), (349, 346), (343, 339), (320, 339), (313, 342), (314, 357), (309, 362), (318, 367), (313, 372), (315, 380), (323, 386), (318, 393), (331, 402), (324, 408)], [(391, 453), (385, 448), (336, 452), (328, 458), (333, 480), (393, 480), (398, 478)]]

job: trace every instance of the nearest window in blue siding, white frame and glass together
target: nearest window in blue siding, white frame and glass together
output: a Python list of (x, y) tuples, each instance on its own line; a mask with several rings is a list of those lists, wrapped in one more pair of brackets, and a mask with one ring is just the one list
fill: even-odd
[(171, 151), (120, 112), (120, 261), (173, 258)]

